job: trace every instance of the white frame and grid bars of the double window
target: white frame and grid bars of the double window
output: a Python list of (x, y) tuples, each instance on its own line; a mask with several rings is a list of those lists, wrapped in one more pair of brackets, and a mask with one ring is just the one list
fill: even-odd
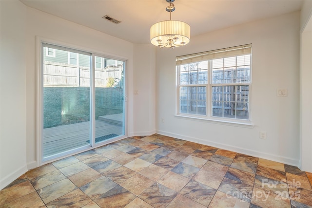
[[(246, 53), (243, 55), (250, 55), (250, 65), (249, 66), (249, 82), (230, 82), (230, 83), (213, 83), (213, 60), (214, 59), (219, 59), (219, 58), (226, 58), (226, 57), (220, 57), (220, 55), (217, 55), (217, 58), (208, 58), (204, 59), (202, 57), (209, 57), (210, 53), (219, 53), (222, 51), (227, 51), (229, 50), (232, 55), (227, 56), (227, 57), (238, 57), (241, 56), (242, 54), (238, 55), (233, 55), (235, 54), (235, 49), (236, 48), (242, 48), (242, 47), (249, 47), (250, 48), (250, 53)], [(233, 51), (231, 51), (234, 48)], [(182, 56), (182, 57), (176, 57), (176, 116), (181, 116), (181, 117), (186, 117), (186, 118), (194, 118), (194, 119), (202, 119), (202, 120), (210, 120), (210, 121), (218, 121), (218, 122), (227, 122), (227, 123), (234, 123), (234, 124), (246, 124), (246, 125), (252, 125), (252, 113), (251, 113), (251, 89), (252, 89), (252, 44), (246, 44), (242, 46), (235, 46), (231, 48), (226, 48), (226, 49), (219, 49), (219, 50), (214, 50), (214, 51), (209, 51), (209, 52), (203, 52), (203, 53), (198, 53), (198, 54), (192, 54), (192, 55), (187, 55), (187, 56)], [(186, 59), (191, 59), (189, 62), (185, 61)], [(192, 61), (193, 59), (193, 61)], [(195, 60), (195, 61), (194, 61)], [(207, 83), (206, 84), (180, 84), (180, 75), (181, 75), (181, 67), (186, 64), (192, 64), (192, 63), (200, 63), (202, 61), (208, 61), (208, 66), (207, 66)], [(235, 71), (237, 73), (237, 58), (235, 59)], [(246, 65), (243, 65), (246, 67)], [(223, 67), (223, 69), (226, 67)], [(197, 69), (197, 75), (198, 75), (198, 69)], [(198, 79), (197, 79), (198, 80)], [(182, 87), (200, 87), (200, 86), (205, 86), (206, 87), (206, 113), (204, 115), (201, 114), (193, 114), (193, 113), (184, 113), (181, 112), (181, 88)], [(232, 117), (224, 117), (224, 111), (222, 111), (222, 117), (220, 116), (215, 116), (213, 115), (213, 87), (215, 86), (246, 86), (248, 87), (248, 99), (247, 102), (240, 102), (236, 100), (237, 94), (235, 93), (235, 99), (234, 103), (247, 103), (247, 108), (248, 108), (248, 119), (242, 119), (242, 118), (237, 118), (237, 114), (234, 114), (234, 118)], [(235, 88), (236, 89), (236, 88)], [(196, 95), (198, 95), (196, 93)], [(189, 101), (189, 99), (186, 99)], [(222, 101), (222, 109), (224, 109), (224, 103), (225, 100)], [(198, 105), (196, 105), (196, 108)], [(237, 111), (238, 109), (235, 107), (234, 109)], [(197, 109), (196, 109), (197, 111)], [(197, 111), (198, 112), (198, 111)]]

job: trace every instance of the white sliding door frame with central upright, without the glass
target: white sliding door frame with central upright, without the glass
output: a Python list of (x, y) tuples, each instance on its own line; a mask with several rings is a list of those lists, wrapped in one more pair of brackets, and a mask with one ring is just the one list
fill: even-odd
[[(72, 50), (82, 51), (91, 54), (90, 58), (90, 146), (86, 148), (86, 146), (66, 151), (64, 154), (59, 154), (58, 157), (51, 157), (48, 159), (43, 158), (43, 46), (42, 44), (51, 44), (59, 47), (64, 47)], [(124, 62), (123, 66), (123, 134), (114, 139), (109, 139), (104, 142), (100, 142), (98, 144), (95, 143), (95, 57), (105, 57), (112, 58), (115, 60), (120, 60)], [(74, 155), (83, 151), (92, 150), (94, 148), (100, 147), (102, 145), (126, 138), (128, 136), (128, 60), (121, 57), (115, 57), (106, 55), (105, 53), (95, 52), (94, 50), (85, 49), (83, 47), (78, 47), (75, 45), (67, 44), (64, 42), (51, 40), (43, 37), (36, 37), (36, 65), (37, 65), (37, 122), (36, 122), (36, 139), (37, 139), (37, 167), (68, 157), (70, 155)]]

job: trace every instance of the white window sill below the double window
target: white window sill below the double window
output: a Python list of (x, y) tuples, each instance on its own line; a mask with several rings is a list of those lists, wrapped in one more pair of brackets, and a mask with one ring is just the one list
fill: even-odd
[(200, 118), (200, 117), (192, 117), (188, 115), (175, 115), (176, 118), (180, 119), (188, 119), (188, 120), (194, 120), (194, 121), (203, 121), (203, 122), (209, 122), (209, 123), (215, 123), (215, 124), (221, 124), (221, 125), (228, 125), (228, 126), (236, 126), (236, 127), (244, 127), (244, 128), (254, 128), (253, 123), (245, 123), (245, 122), (235, 122), (235, 121), (227, 121), (227, 120), (216, 120), (211, 118)]

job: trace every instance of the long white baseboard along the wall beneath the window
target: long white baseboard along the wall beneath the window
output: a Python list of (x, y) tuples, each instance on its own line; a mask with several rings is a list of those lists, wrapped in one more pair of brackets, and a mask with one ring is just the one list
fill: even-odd
[(283, 156), (270, 154), (270, 153), (266, 153), (266, 152), (248, 150), (248, 149), (236, 147), (236, 146), (233, 146), (233, 145), (227, 145), (227, 144), (222, 144), (222, 143), (218, 143), (218, 142), (207, 141), (207, 140), (194, 138), (194, 137), (189, 137), (189, 136), (176, 134), (176, 133), (171, 133), (171, 132), (164, 132), (164, 131), (156, 130), (156, 133), (159, 133), (159, 134), (162, 134), (162, 135), (165, 135), (165, 136), (178, 138), (178, 139), (191, 141), (191, 142), (196, 142), (196, 143), (199, 143), (199, 144), (208, 145), (208, 146), (212, 146), (212, 147), (216, 147), (216, 148), (220, 148), (220, 149), (224, 149), (224, 150), (228, 150), (228, 151), (235, 151), (235, 152), (238, 152), (238, 153), (241, 153), (241, 154), (247, 154), (247, 155), (254, 156), (254, 157), (259, 157), (259, 158), (263, 158), (263, 159), (267, 159), (267, 160), (272, 160), (272, 161), (275, 161), (275, 162), (284, 163), (284, 164), (292, 165), (292, 166), (295, 166), (295, 167), (299, 166), (299, 161), (296, 160), (296, 159), (290, 158), (290, 157), (283, 157)]

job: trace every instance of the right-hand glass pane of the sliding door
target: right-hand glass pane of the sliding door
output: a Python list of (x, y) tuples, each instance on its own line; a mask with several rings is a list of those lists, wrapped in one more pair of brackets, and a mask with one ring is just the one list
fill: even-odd
[(125, 61), (95, 56), (95, 143), (124, 134)]

